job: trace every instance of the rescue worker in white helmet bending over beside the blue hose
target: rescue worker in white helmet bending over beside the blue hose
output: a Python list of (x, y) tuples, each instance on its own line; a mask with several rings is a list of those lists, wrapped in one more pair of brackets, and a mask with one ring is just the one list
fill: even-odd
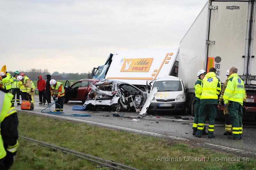
[(50, 80), (50, 91), (55, 101), (55, 111), (54, 112), (63, 112), (63, 104), (64, 104), (64, 96), (65, 91), (61, 82), (57, 82), (56, 80)]

